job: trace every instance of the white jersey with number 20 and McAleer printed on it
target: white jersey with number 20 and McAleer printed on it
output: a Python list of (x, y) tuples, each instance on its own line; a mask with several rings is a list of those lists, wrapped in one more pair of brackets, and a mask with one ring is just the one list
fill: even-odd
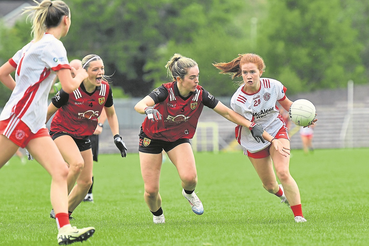
[[(275, 79), (261, 78), (260, 82), (260, 89), (255, 94), (246, 93), (243, 90), (245, 84), (242, 84), (232, 96), (231, 108), (249, 121), (262, 125), (270, 135), (276, 136), (279, 129), (286, 126), (276, 103), (286, 98), (284, 93), (287, 89)], [(256, 142), (251, 131), (239, 125), (235, 134), (238, 143), (251, 153), (265, 149), (270, 144), (268, 141)]]

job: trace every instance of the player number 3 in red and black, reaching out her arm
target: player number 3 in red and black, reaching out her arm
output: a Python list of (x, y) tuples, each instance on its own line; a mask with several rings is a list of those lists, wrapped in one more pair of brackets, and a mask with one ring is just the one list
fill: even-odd
[[(166, 64), (172, 82), (154, 89), (135, 105), (135, 110), (146, 114), (139, 134), (139, 158), (144, 179), (144, 199), (153, 214), (155, 224), (165, 223), (159, 194), (162, 150), (176, 166), (182, 180), (182, 194), (190, 202), (192, 211), (201, 215), (203, 205), (194, 193), (197, 171), (190, 140), (204, 105), (224, 118), (252, 129), (256, 141), (272, 140), (262, 126), (252, 124), (199, 86), (199, 67), (190, 58), (175, 54)], [(155, 107), (154, 107), (155, 105)], [(256, 143), (256, 142), (255, 142)], [(274, 143), (276, 152), (286, 156), (289, 149)]]

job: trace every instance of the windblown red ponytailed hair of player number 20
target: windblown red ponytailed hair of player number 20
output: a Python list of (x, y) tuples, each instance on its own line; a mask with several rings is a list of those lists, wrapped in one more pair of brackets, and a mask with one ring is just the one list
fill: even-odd
[(241, 66), (246, 63), (254, 63), (259, 71), (265, 72), (265, 63), (261, 56), (254, 53), (238, 54), (238, 57), (230, 62), (213, 63), (213, 66), (220, 69), (222, 74), (229, 74), (232, 79), (242, 75)]

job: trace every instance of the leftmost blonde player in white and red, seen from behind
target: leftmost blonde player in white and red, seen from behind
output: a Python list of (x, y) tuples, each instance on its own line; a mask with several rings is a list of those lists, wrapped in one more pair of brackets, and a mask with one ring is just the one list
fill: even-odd
[[(69, 7), (61, 0), (44, 0), (24, 12), (32, 15), (34, 39), (0, 67), (0, 80), (13, 90), (0, 115), (0, 167), (19, 147), (28, 151), (51, 175), (50, 199), (59, 229), (58, 244), (86, 240), (93, 227), (71, 227), (68, 216), (68, 166), (45, 126), (48, 95), (57, 75), (68, 93), (87, 78), (84, 69), (70, 74), (66, 50), (59, 39), (71, 24)], [(15, 81), (11, 73), (15, 71)], [(47, 149), (47, 151), (45, 151)]]

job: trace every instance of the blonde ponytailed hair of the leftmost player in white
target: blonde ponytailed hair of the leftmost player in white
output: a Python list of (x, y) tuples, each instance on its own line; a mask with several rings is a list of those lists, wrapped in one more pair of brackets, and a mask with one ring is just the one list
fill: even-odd
[(32, 1), (37, 3), (37, 6), (24, 8), (23, 14), (32, 12), (27, 18), (32, 16), (31, 35), (34, 38), (34, 42), (37, 42), (44, 36), (48, 28), (57, 27), (62, 21), (63, 16), (69, 16), (70, 10), (68, 5), (62, 0), (43, 0), (41, 3), (36, 0)]

